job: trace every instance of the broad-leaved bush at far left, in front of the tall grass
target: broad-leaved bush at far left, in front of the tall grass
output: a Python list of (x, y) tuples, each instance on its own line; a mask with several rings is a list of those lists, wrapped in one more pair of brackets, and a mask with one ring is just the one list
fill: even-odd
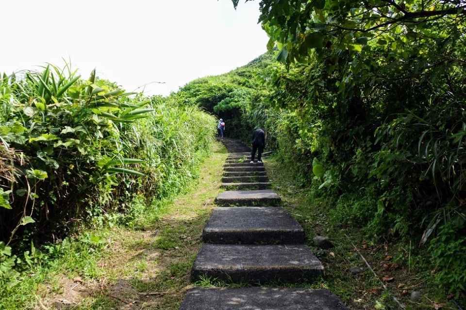
[(123, 168), (143, 162), (125, 157), (124, 135), (147, 117), (150, 100), (131, 99), (95, 72), (84, 81), (67, 69), (3, 76), (0, 154), (10, 173), (0, 185), (12, 189), (15, 204), (0, 209), (8, 243), (17, 230), (50, 236), (105, 212), (118, 174), (142, 175)]

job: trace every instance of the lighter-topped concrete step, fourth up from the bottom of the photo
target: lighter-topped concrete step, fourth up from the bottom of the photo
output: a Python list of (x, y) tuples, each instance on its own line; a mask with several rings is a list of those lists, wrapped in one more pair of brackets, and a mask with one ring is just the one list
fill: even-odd
[(281, 201), (280, 196), (271, 189), (226, 190), (215, 199), (219, 206), (275, 206)]

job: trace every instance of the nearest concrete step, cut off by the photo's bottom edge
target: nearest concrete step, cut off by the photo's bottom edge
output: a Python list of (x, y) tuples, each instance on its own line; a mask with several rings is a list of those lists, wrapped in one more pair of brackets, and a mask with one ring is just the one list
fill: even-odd
[(348, 310), (329, 290), (243, 287), (188, 290), (180, 310)]

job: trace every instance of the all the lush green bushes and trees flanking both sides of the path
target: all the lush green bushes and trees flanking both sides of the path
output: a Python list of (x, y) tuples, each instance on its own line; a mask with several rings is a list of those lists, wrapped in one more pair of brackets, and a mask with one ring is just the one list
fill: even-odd
[(155, 220), (209, 154), (216, 121), (202, 110), (246, 143), (265, 127), (333, 231), (416, 245), (435, 285), (464, 299), (465, 1), (260, 3), (269, 52), (167, 98), (68, 66), (1, 77), (0, 306), (19, 305), (17, 284), (51, 259), (105, 243), (67, 236)]

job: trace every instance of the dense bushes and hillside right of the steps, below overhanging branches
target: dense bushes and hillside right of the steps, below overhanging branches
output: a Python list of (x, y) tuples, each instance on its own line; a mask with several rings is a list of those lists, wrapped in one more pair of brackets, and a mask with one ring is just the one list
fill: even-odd
[[(265, 127), (267, 150), (309, 195), (334, 202), (334, 222), (371, 240), (428, 249), (437, 284), (460, 297), (466, 51), (458, 43), (465, 38), (455, 30), (439, 33), (458, 41), (394, 33), (396, 50), (369, 40), (349, 53), (329, 43), (309, 52), (307, 63), (281, 64), (266, 53), (228, 74), (188, 83), (175, 96), (222, 117), (227, 137), (249, 144), (252, 129)], [(439, 53), (458, 61), (430, 65)]]

